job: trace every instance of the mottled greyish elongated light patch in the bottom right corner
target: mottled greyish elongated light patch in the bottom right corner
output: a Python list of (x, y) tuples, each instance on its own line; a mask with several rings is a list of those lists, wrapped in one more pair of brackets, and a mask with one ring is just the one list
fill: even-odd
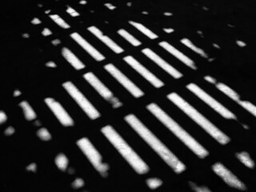
[(226, 166), (222, 165), (220, 162), (216, 162), (212, 169), (214, 173), (217, 174), (227, 185), (233, 187), (237, 190), (246, 190), (246, 185), (241, 182)]

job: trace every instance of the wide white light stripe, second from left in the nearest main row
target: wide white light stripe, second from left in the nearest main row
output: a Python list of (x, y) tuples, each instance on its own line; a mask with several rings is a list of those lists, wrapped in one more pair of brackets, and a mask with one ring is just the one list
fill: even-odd
[(146, 162), (136, 154), (112, 126), (105, 126), (101, 131), (137, 174), (149, 172), (150, 168), (146, 165)]

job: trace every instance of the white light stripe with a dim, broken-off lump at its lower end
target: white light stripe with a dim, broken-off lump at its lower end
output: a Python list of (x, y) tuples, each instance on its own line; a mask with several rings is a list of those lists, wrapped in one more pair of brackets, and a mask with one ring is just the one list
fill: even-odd
[(122, 102), (114, 96), (114, 94), (91, 72), (84, 74), (83, 78), (90, 83), (91, 86), (104, 98), (107, 102), (110, 102), (113, 108), (122, 106)]

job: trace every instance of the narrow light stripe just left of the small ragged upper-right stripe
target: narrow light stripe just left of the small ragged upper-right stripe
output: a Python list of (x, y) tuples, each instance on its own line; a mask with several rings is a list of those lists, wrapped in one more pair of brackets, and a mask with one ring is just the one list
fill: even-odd
[(188, 58), (185, 54), (182, 54), (182, 52), (177, 50), (174, 46), (171, 46), (168, 42), (159, 42), (159, 46), (162, 46), (163, 49), (174, 55), (175, 58), (178, 58), (178, 60), (183, 62), (186, 66), (189, 66), (193, 70), (197, 70), (194, 61)]

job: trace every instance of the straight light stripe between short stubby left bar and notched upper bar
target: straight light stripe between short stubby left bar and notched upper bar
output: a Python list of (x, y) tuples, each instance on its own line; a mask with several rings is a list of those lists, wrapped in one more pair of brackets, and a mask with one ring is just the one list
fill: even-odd
[(93, 57), (97, 62), (101, 62), (105, 59), (105, 57), (100, 52), (98, 52), (94, 46), (91, 46), (90, 43), (86, 41), (86, 39), (82, 38), (80, 34), (73, 33), (70, 34), (70, 37), (73, 38), (79, 46), (82, 46), (82, 49), (86, 50), (86, 52), (90, 54), (90, 56)]

